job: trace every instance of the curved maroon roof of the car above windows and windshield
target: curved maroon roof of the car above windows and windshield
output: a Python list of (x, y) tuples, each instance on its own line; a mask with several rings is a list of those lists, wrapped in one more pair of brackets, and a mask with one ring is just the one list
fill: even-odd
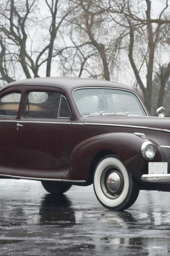
[[(131, 90), (132, 87), (115, 83), (111, 81), (91, 79), (91, 78), (78, 78), (78, 77), (38, 77), (29, 78), (20, 81), (15, 81), (8, 84), (5, 87), (11, 87), (16, 85), (43, 85), (43, 86), (54, 86), (61, 88), (65, 91), (73, 91), (79, 87), (114, 87), (117, 89)], [(3, 87), (4, 89), (4, 87)]]

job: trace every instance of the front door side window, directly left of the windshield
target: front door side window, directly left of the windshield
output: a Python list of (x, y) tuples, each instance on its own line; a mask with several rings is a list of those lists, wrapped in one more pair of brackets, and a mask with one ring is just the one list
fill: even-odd
[(60, 101), (60, 93), (29, 92), (25, 98), (23, 117), (57, 118)]

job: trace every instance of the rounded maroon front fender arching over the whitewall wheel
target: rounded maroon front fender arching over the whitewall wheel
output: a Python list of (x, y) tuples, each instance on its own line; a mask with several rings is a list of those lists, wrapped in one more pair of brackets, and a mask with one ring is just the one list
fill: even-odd
[[(90, 165), (100, 151), (111, 151), (121, 158), (132, 175), (140, 180), (148, 161), (141, 154), (141, 145), (146, 141), (133, 133), (106, 133), (91, 137), (79, 143), (72, 151), (70, 178), (88, 180)], [(145, 173), (145, 171), (144, 171)]]

